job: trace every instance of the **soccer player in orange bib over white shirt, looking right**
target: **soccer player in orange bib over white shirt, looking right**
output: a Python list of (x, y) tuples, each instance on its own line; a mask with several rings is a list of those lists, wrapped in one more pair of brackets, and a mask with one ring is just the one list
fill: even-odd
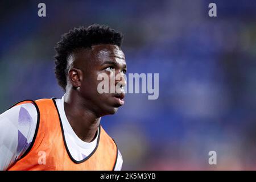
[[(100, 125), (124, 104), (123, 36), (108, 26), (73, 28), (57, 43), (55, 75), (61, 99), (24, 100), (0, 115), (1, 170), (121, 170), (122, 156)], [(99, 93), (98, 75), (121, 93)], [(121, 84), (120, 84), (121, 83)]]

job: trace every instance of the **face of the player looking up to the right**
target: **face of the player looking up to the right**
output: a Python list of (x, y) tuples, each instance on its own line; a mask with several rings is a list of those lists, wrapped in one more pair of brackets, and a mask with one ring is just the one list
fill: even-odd
[[(126, 72), (125, 55), (118, 46), (112, 44), (100, 44), (92, 46), (92, 49), (81, 49), (75, 53), (74, 68), (81, 69), (81, 86), (79, 94), (85, 101), (86, 107), (92, 109), (98, 116), (114, 114), (118, 107), (124, 104), (126, 85), (124, 74)], [(109, 86), (117, 86), (121, 94), (99, 93), (97, 88), (102, 80), (98, 76), (108, 77)], [(115, 76), (119, 74), (118, 80)], [(111, 80), (114, 80), (111, 81)], [(120, 93), (120, 92), (119, 92)]]

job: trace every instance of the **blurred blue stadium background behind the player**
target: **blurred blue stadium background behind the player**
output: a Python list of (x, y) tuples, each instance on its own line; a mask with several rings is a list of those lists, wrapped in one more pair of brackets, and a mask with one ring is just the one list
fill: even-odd
[(0, 113), (63, 96), (53, 72), (60, 35), (108, 24), (125, 34), (128, 73), (159, 73), (158, 100), (127, 94), (102, 118), (123, 169), (256, 169), (256, 1), (1, 1), (0, 14)]

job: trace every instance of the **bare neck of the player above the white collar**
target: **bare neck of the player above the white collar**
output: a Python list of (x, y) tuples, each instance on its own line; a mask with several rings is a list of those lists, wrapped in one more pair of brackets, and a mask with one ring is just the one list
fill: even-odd
[(68, 92), (64, 96), (64, 110), (76, 135), (84, 142), (92, 142), (96, 138), (101, 118), (82, 102), (77, 92)]

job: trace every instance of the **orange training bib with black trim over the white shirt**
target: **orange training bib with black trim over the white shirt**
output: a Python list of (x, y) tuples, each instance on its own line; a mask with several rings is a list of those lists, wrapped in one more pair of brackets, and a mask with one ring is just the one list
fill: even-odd
[[(54, 99), (26, 100), (15, 105), (33, 103), (38, 110), (35, 137), (27, 152), (8, 170), (113, 170), (117, 146), (100, 126), (97, 147), (77, 162), (68, 151)], [(15, 106), (14, 105), (14, 106)]]

